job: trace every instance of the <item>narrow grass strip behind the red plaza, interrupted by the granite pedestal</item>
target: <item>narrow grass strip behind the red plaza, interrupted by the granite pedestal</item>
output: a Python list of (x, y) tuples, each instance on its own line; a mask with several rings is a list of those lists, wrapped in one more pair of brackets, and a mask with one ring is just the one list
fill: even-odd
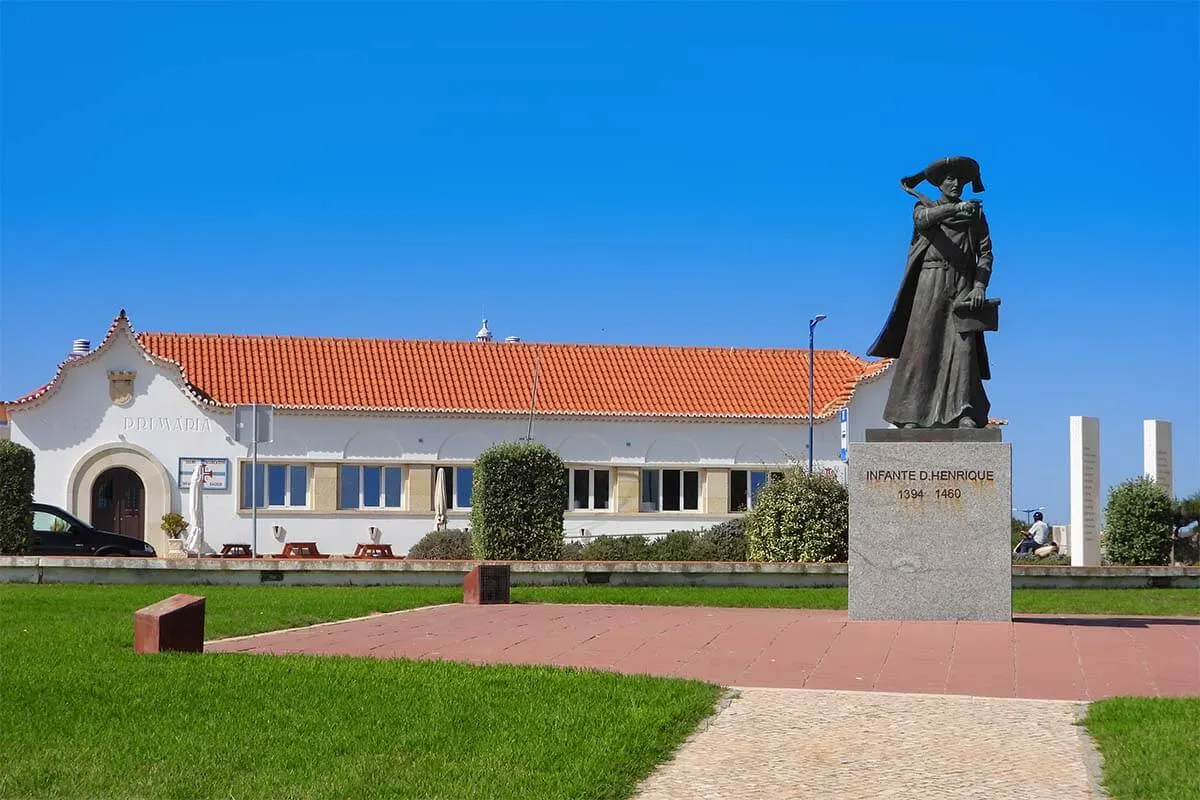
[[(522, 603), (614, 603), (737, 608), (836, 608), (846, 589), (724, 587), (514, 587)], [(1014, 589), (1018, 614), (1200, 616), (1200, 589)]]

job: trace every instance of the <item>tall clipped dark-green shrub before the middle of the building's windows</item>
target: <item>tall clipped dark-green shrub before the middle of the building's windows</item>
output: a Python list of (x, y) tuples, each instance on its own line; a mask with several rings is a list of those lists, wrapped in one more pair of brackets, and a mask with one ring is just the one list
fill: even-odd
[(566, 468), (535, 441), (488, 447), (475, 459), (472, 549), (479, 559), (553, 560), (563, 551)]

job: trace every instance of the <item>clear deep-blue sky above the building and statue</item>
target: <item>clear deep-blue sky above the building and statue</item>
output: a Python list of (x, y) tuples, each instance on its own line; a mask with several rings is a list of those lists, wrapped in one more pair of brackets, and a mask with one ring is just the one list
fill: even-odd
[(76, 4), (2, 14), (0, 397), (142, 330), (863, 354), (983, 166), (1014, 505), (1175, 423), (1200, 488), (1198, 5)]

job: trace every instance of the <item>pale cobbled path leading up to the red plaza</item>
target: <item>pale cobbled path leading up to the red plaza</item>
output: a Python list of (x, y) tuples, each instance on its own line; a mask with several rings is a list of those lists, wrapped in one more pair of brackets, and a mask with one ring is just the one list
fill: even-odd
[(638, 800), (1091, 800), (1084, 704), (886, 692), (740, 690)]

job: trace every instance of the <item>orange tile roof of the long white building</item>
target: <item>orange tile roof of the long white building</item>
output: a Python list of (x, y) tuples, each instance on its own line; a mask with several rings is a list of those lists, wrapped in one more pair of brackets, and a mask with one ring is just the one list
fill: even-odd
[[(128, 325), (124, 312), (96, 351), (122, 321)], [(148, 355), (178, 365), (198, 402), (223, 407), (257, 402), (293, 409), (521, 414), (529, 410), (536, 361), (536, 413), (542, 416), (808, 416), (806, 349), (126, 330)], [(817, 350), (815, 416), (836, 414), (889, 363)], [(58, 377), (18, 403), (53, 391), (56, 383)]]

